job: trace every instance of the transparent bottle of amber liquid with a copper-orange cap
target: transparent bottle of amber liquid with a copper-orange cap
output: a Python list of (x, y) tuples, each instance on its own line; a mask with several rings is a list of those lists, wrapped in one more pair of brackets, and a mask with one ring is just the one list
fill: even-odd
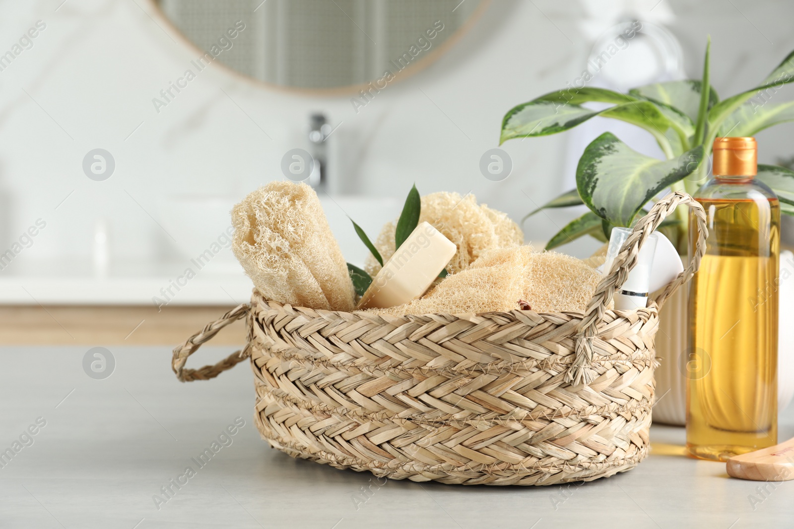
[(709, 232), (689, 291), (687, 450), (696, 458), (777, 444), (780, 202), (754, 178), (756, 153), (754, 138), (717, 138), (714, 177), (695, 194)]

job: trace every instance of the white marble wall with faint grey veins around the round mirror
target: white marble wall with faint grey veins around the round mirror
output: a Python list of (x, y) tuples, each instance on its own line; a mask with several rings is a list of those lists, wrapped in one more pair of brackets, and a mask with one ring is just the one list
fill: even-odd
[[(0, 2), (0, 54), (37, 33), (0, 71), (0, 246), (10, 247), (37, 220), (46, 223), (8, 270), (89, 266), (98, 226), (115, 263), (179, 259), (163, 228), (178, 211), (171, 197), (231, 202), (283, 178), (282, 156), (303, 145), (315, 110), (338, 125), (332, 178), (346, 194), (402, 201), (416, 182), (422, 194), (472, 192), (518, 220), (565, 190), (569, 140), (508, 142), (514, 168), (503, 182), (480, 174), (480, 156), (498, 144), (507, 109), (576, 78), (592, 42), (622, 10), (668, 25), (689, 75), (700, 75), (711, 33), (712, 79), (725, 94), (752, 86), (794, 48), (791, 2), (495, 0), (436, 63), (363, 108), (349, 96), (265, 88), (217, 65), (156, 108), (152, 99), (196, 52), (148, 0)], [(792, 131), (784, 125), (761, 133), (760, 158), (794, 155)], [(96, 148), (115, 163), (102, 182), (83, 171)], [(565, 211), (533, 218), (527, 240), (546, 240), (571, 218)], [(217, 235), (207, 235), (208, 243)], [(568, 250), (584, 255), (592, 247)]]

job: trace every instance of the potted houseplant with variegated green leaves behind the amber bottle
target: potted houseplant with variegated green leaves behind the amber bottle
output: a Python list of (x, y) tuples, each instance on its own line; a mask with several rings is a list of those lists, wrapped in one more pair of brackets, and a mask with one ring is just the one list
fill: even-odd
[[(757, 132), (794, 121), (794, 102), (781, 102), (776, 95), (781, 86), (794, 81), (794, 52), (791, 52), (761, 83), (750, 90), (720, 100), (709, 82), (711, 40), (706, 45), (703, 77), (700, 80), (670, 81), (640, 86), (622, 94), (613, 90), (584, 86), (542, 95), (515, 106), (502, 121), (500, 144), (515, 138), (547, 136), (601, 116), (626, 121), (649, 132), (665, 159), (654, 159), (632, 150), (610, 132), (592, 140), (581, 155), (576, 169), (576, 189), (554, 198), (526, 217), (542, 209), (587, 205), (589, 211), (566, 224), (549, 240), (546, 249), (568, 243), (581, 236), (606, 241), (614, 226), (630, 226), (638, 213), (649, 207), (665, 190), (685, 190), (694, 194), (706, 181), (711, 145), (718, 136), (754, 136)], [(607, 103), (606, 109), (588, 109), (588, 102)], [(780, 197), (781, 212), (794, 215), (794, 171), (785, 167), (758, 165), (757, 178)], [(525, 219), (526, 219), (525, 217)], [(680, 209), (676, 217), (661, 228), (676, 245), (680, 255), (687, 253), (688, 218)], [(664, 422), (683, 424), (685, 369), (680, 369), (681, 352), (687, 347), (684, 325), (685, 293), (676, 294), (661, 312), (657, 351), (662, 365), (657, 370), (657, 393), (664, 406), (654, 417)], [(661, 339), (664, 336), (669, 339)]]

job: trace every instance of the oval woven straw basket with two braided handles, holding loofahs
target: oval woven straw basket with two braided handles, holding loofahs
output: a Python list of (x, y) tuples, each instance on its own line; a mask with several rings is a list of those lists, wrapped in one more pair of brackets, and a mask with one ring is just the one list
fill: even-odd
[[(679, 204), (695, 213), (692, 263), (646, 309), (607, 310), (638, 251)], [(658, 306), (692, 277), (702, 207), (670, 194), (634, 228), (586, 312), (376, 315), (312, 310), (254, 291), (174, 350), (180, 380), (243, 358), (255, 422), (295, 458), (376, 476), (464, 485), (553, 485), (634, 468), (648, 454)], [(184, 368), (220, 328), (247, 316), (245, 349)]]

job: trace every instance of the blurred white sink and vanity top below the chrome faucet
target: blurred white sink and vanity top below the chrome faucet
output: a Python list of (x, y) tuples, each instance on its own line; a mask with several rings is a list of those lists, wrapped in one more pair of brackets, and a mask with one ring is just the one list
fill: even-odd
[[(398, 217), (402, 209), (402, 202), (393, 198), (329, 197), (321, 194), (321, 202), (345, 259), (357, 266), (364, 264), (369, 251), (353, 230), (350, 218), (356, 220), (374, 242), (383, 224)], [(158, 217), (175, 240), (182, 259), (170, 263), (152, 260), (134, 263), (110, 256), (110, 263), (116, 266), (111, 265), (106, 274), (94, 272), (91, 256), (71, 261), (28, 262), (24, 267), (0, 274), (0, 304), (245, 303), (251, 297), (252, 282), (226, 243), (226, 230), (231, 225), (229, 211), (233, 204), (234, 200), (227, 197), (168, 197), (160, 201)], [(200, 259), (202, 255), (205, 259)], [(124, 263), (123, 268), (118, 266), (119, 262)], [(187, 268), (194, 271), (194, 277), (185, 277)]]

